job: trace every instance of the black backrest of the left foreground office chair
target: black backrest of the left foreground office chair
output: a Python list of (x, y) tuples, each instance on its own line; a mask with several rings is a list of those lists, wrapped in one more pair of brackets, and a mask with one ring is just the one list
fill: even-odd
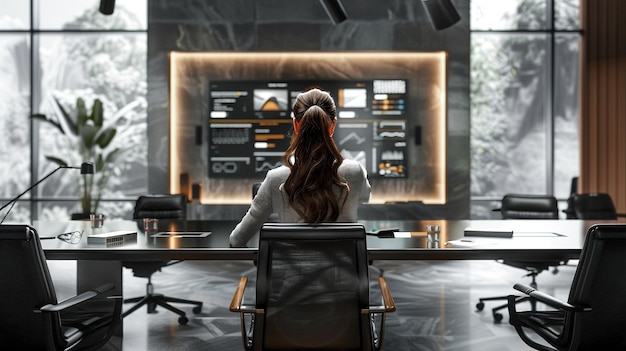
[[(37, 307), (57, 297), (37, 232), (25, 225), (0, 226), (0, 340), (21, 350), (63, 348), (58, 313)], [(55, 330), (51, 330), (51, 326)]]

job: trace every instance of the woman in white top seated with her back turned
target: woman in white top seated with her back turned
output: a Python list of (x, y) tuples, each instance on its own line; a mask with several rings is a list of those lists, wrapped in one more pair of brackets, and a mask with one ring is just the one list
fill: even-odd
[(356, 222), (370, 184), (360, 163), (344, 160), (332, 138), (337, 124), (333, 98), (311, 89), (292, 110), (295, 134), (283, 166), (267, 172), (250, 209), (230, 234), (230, 245), (245, 246), (272, 213), (281, 222)]

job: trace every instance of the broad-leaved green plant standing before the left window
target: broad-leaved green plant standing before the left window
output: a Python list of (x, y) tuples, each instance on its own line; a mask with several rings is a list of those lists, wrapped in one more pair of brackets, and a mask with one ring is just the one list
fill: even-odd
[[(96, 173), (85, 175), (80, 185), (82, 213), (72, 215), (72, 219), (89, 218), (91, 213), (98, 213), (102, 190), (111, 173), (108, 166), (115, 162), (120, 153), (120, 149), (111, 144), (117, 129), (114, 124), (104, 123), (102, 101), (99, 99), (94, 99), (90, 112), (87, 111), (85, 100), (80, 97), (76, 99), (73, 113), (69, 113), (56, 97), (54, 103), (58, 118), (45, 114), (34, 114), (32, 118), (50, 124), (63, 136), (70, 138), (82, 162), (94, 163)], [(54, 155), (45, 155), (45, 158), (57, 165), (68, 165), (65, 159)]]

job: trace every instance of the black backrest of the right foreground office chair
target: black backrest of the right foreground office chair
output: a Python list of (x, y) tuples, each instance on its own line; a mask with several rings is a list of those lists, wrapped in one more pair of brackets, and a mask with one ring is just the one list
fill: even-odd
[(568, 302), (590, 312), (566, 312), (563, 339), (570, 350), (626, 350), (626, 226), (592, 226), (585, 239)]

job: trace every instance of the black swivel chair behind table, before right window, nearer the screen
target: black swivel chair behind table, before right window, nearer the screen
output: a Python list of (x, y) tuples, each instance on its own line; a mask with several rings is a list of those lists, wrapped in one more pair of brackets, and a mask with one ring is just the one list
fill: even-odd
[[(502, 198), (501, 207), (494, 211), (500, 211), (503, 219), (558, 219), (559, 208), (557, 200), (554, 196), (550, 195), (519, 195), (519, 194), (507, 194)], [(537, 275), (539, 273), (550, 269), (550, 267), (558, 267), (566, 262), (563, 261), (511, 261), (501, 260), (499, 261), (507, 266), (526, 270), (526, 276), (531, 278), (530, 285), (534, 288), (537, 287)], [(557, 273), (557, 268), (554, 268), (553, 273)], [(485, 308), (485, 301), (495, 300), (507, 300), (507, 296), (493, 296), (483, 297), (478, 299), (476, 309), (482, 311)], [(527, 301), (528, 299), (520, 298), (519, 302)], [(534, 301), (531, 302), (532, 308), (535, 308)], [(496, 323), (502, 321), (503, 315), (498, 311), (505, 309), (507, 304), (502, 304), (491, 309), (493, 319)]]

